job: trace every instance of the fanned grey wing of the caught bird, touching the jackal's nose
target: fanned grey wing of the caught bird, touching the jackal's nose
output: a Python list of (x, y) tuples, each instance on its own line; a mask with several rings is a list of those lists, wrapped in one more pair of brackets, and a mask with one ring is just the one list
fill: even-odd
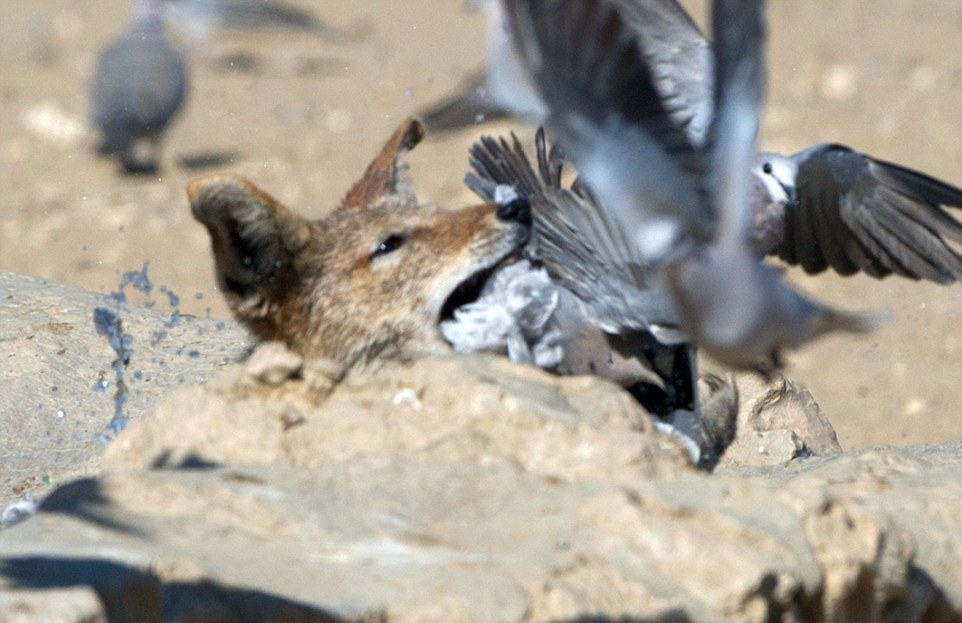
[(590, 192), (576, 180), (562, 185), (564, 157), (548, 149), (539, 130), (537, 171), (517, 137), (482, 137), (471, 148), (465, 182), (486, 201), (498, 186), (510, 186), (528, 200), (534, 216), (530, 253), (551, 276), (582, 302), (585, 312), (604, 330), (623, 333), (651, 324), (674, 323), (666, 297), (651, 287), (647, 265), (625, 231), (607, 217)]

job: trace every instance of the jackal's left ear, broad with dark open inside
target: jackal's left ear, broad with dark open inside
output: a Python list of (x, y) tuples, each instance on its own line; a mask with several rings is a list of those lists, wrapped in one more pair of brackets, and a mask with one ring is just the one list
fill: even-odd
[(307, 219), (233, 175), (195, 179), (187, 196), (194, 218), (210, 233), (225, 293), (256, 306), (294, 278), (293, 260), (311, 239)]

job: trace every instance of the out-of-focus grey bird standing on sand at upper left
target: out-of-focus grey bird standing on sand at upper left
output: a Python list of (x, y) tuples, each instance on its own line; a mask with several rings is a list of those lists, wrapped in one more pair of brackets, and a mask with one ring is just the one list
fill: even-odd
[(164, 31), (162, 0), (137, 0), (127, 30), (97, 59), (90, 80), (99, 153), (127, 173), (153, 173), (164, 130), (187, 96), (187, 66)]

